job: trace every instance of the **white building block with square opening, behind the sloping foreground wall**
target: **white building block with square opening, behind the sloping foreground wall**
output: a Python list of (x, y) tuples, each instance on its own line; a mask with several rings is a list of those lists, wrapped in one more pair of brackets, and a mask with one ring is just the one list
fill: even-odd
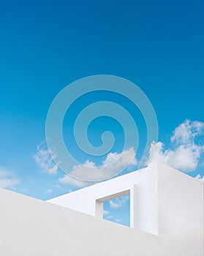
[(131, 227), (164, 238), (165, 245), (171, 245), (170, 251), (180, 241), (183, 246), (192, 244), (192, 255), (203, 253), (203, 182), (159, 162), (53, 198), (50, 203), (102, 218), (99, 199), (109, 200), (127, 189), (131, 197)]

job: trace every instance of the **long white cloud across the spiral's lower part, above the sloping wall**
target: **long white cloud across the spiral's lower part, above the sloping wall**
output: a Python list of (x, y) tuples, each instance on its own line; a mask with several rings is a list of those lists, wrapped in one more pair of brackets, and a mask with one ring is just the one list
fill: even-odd
[[(74, 165), (69, 175), (60, 178), (63, 184), (69, 184), (75, 187), (86, 187), (93, 184), (93, 180), (102, 180), (108, 176), (116, 176), (118, 170), (123, 170), (129, 165), (136, 165), (135, 149), (129, 148), (121, 153), (109, 153), (102, 165), (97, 167), (94, 162), (86, 161), (84, 165)], [(90, 168), (91, 167), (91, 168)], [(86, 177), (86, 181), (80, 181), (72, 177)]]

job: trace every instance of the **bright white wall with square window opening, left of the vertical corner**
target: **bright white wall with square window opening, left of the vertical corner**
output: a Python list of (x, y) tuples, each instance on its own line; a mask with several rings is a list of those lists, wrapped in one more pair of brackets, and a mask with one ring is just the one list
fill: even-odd
[[(53, 198), (49, 202), (102, 217), (100, 201), (109, 200), (111, 195), (129, 190), (131, 227), (156, 235), (158, 234), (157, 187), (157, 165), (152, 163), (143, 170)], [(117, 196), (121, 196), (120, 193)]]

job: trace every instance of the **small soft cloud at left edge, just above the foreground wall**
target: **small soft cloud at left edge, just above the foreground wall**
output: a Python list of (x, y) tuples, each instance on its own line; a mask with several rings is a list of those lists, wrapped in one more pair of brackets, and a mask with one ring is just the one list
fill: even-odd
[(15, 185), (20, 183), (18, 178), (15, 178), (12, 172), (0, 167), (0, 187), (4, 189), (13, 189)]

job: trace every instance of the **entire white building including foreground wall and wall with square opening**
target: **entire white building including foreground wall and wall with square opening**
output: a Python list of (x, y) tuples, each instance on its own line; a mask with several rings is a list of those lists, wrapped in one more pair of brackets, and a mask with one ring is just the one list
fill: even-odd
[[(0, 255), (203, 256), (203, 185), (155, 162), (49, 202), (0, 189)], [(126, 193), (132, 228), (102, 219)]]

